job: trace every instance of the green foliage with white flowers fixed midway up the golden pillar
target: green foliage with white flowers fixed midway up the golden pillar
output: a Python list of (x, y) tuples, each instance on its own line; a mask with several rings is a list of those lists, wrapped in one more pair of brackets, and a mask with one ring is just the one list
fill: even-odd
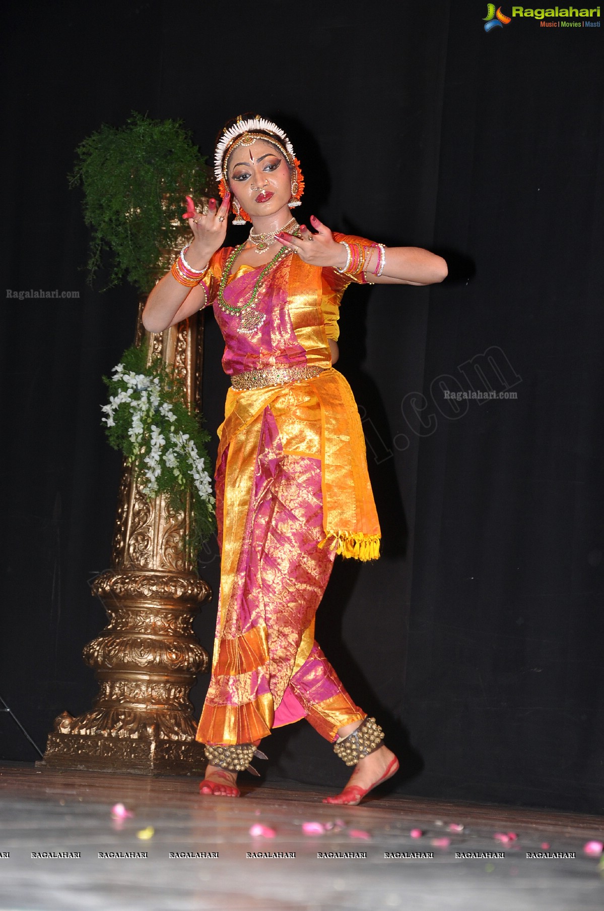
[(216, 528), (206, 470), (209, 435), (189, 411), (185, 387), (172, 368), (159, 357), (147, 365), (146, 358), (146, 346), (128, 348), (113, 376), (103, 377), (109, 390), (109, 404), (101, 409), (103, 423), (110, 445), (124, 453), (147, 496), (166, 494), (170, 506), (180, 511), (190, 497), (185, 548), (193, 558)]

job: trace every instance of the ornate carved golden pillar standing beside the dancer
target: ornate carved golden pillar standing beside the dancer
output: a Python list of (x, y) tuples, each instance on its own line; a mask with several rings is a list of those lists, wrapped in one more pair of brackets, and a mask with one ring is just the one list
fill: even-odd
[[(200, 388), (203, 324), (198, 315), (145, 333), (138, 310), (136, 343), (150, 336), (149, 357), (175, 366), (190, 406)], [(99, 692), (77, 718), (66, 711), (48, 736), (45, 764), (54, 768), (153, 773), (203, 773), (203, 746), (188, 693), (208, 656), (193, 619), (210, 597), (186, 556), (189, 510), (174, 512), (163, 495), (152, 500), (124, 466), (111, 568), (96, 577), (94, 595), (109, 623), (84, 649)], [(41, 765), (44, 763), (40, 763)]]

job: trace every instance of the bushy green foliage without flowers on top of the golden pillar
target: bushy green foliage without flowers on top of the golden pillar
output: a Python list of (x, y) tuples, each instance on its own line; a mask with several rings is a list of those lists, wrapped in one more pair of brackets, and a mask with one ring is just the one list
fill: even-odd
[(206, 191), (209, 170), (179, 120), (133, 112), (121, 128), (104, 124), (76, 148), (71, 186), (84, 189), (86, 224), (93, 230), (88, 260), (95, 278), (103, 251), (113, 254), (110, 288), (126, 277), (143, 293), (169, 268), (190, 230), (186, 194)]

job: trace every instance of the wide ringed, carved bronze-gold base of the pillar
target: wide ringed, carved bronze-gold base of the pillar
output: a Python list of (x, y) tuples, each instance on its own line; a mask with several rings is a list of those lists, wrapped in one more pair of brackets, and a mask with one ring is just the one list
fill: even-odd
[(140, 774), (203, 773), (188, 691), (206, 670), (193, 619), (209, 594), (187, 573), (109, 569), (93, 592), (109, 624), (84, 650), (100, 691), (91, 711), (66, 711), (48, 737), (45, 764)]

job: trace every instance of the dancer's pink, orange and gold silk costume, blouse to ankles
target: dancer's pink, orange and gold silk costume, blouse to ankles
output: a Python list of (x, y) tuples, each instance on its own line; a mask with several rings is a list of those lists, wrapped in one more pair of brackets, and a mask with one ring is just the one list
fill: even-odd
[[(287, 255), (258, 293), (265, 321), (244, 334), (239, 317), (216, 299), (230, 252), (216, 252), (204, 279), (226, 343), (226, 373), (318, 369), (296, 382), (227, 394), (216, 463), (216, 640), (196, 738), (250, 743), (306, 716), (334, 742), (339, 728), (367, 716), (319, 648), (315, 613), (336, 553), (377, 558), (380, 537), (357, 405), (327, 343), (337, 339), (351, 280)], [(260, 269), (231, 275), (225, 301), (245, 300)]]

